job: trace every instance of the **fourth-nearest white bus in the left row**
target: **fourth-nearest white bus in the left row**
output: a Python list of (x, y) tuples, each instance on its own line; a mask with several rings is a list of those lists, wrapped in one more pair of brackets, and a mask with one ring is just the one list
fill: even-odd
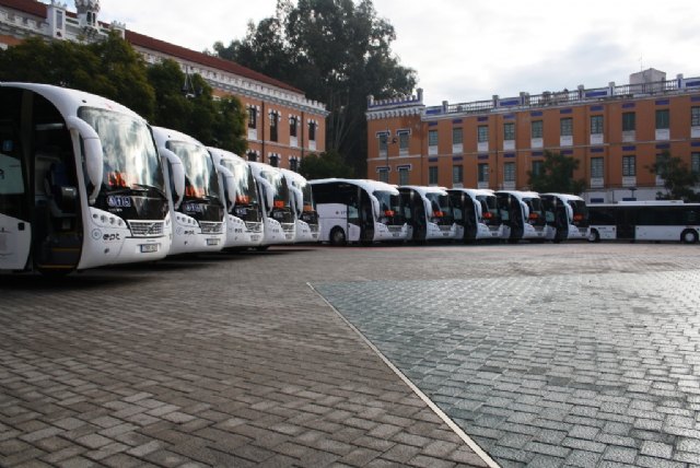
[(292, 196), (282, 171), (265, 163), (249, 162), (258, 185), (262, 207), (262, 243), (258, 250), (270, 245), (293, 244), (296, 222), (292, 209)]

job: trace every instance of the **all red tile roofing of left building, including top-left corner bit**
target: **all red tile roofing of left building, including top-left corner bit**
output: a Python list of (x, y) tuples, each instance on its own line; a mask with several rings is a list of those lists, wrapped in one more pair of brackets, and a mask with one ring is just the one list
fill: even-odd
[[(0, 7), (7, 7), (12, 10), (18, 10), (24, 13), (32, 14), (34, 16), (46, 17), (46, 4), (34, 0), (0, 0)], [(69, 15), (74, 13), (68, 12)], [(282, 90), (290, 91), (304, 95), (304, 92), (289, 85), (282, 81), (267, 77), (249, 68), (243, 67), (230, 60), (223, 60), (219, 57), (208, 56), (207, 54), (197, 52), (195, 50), (187, 49), (185, 47), (176, 46), (164, 40), (155, 39), (153, 37), (144, 36), (143, 34), (135, 33), (133, 31), (126, 32), (126, 39), (133, 46), (143, 47), (153, 51), (176, 57), (183, 60), (189, 60), (195, 63), (199, 63), (206, 67), (211, 67), (221, 71), (236, 74), (242, 78), (259, 81), (260, 83), (269, 84)]]

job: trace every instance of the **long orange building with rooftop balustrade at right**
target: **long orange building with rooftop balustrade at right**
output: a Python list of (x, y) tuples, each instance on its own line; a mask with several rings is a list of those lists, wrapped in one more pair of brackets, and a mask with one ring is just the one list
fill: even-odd
[(653, 200), (664, 151), (700, 172), (700, 78), (645, 70), (630, 84), (427, 107), (422, 90), (368, 102), (368, 177), (390, 184), (527, 189), (544, 152), (579, 160), (586, 201)]

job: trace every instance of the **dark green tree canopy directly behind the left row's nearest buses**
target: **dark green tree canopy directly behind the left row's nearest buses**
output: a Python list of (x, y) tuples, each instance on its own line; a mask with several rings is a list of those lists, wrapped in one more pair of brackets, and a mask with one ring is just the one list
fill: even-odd
[[(177, 62), (148, 67), (117, 34), (93, 44), (34, 37), (0, 50), (0, 81), (47, 83), (124, 104), (152, 125), (191, 134), (207, 145), (245, 153), (245, 112), (235, 97), (213, 98), (199, 75)], [(187, 84), (184, 90), (184, 84)]]

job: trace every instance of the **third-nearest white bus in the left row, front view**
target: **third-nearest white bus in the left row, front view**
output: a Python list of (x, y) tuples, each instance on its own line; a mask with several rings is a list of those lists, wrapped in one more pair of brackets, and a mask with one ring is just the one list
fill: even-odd
[[(218, 166), (233, 178), (234, 194), (226, 207), (226, 241), (224, 248), (257, 247), (262, 243), (262, 210), (257, 183), (248, 163), (241, 156), (218, 148), (209, 148)], [(222, 171), (225, 172), (225, 171)], [(224, 189), (226, 185), (224, 184)], [(226, 189), (226, 192), (229, 190)]]

